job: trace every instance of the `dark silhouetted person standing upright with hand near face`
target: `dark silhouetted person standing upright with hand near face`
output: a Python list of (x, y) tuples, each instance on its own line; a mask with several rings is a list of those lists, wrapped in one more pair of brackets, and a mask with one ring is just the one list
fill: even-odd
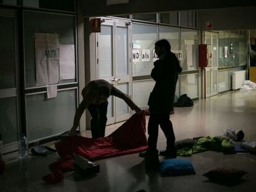
[(159, 40), (155, 43), (155, 53), (159, 59), (154, 62), (151, 77), (155, 80), (155, 86), (150, 93), (148, 106), (150, 118), (148, 120), (148, 150), (140, 153), (145, 157), (145, 162), (159, 162), (158, 149), (158, 125), (166, 137), (166, 150), (161, 151), (161, 156), (176, 157), (175, 136), (173, 124), (169, 120), (169, 114), (173, 110), (174, 96), (178, 73), (182, 71), (176, 55), (171, 52), (171, 45), (167, 40)]

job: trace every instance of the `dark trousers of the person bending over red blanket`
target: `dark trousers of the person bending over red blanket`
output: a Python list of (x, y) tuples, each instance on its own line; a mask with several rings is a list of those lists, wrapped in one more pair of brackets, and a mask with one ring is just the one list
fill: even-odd
[(88, 106), (88, 111), (90, 112), (91, 119), (91, 131), (92, 138), (101, 138), (105, 136), (106, 122), (108, 120), (108, 101), (101, 104), (90, 104)]

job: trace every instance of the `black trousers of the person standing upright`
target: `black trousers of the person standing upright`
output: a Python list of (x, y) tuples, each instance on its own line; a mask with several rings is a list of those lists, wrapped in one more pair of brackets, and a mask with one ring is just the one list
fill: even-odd
[(160, 125), (166, 137), (166, 150), (175, 150), (175, 136), (173, 132), (173, 123), (171, 123), (169, 114), (150, 114), (148, 120), (148, 152), (158, 153), (156, 144), (158, 140), (158, 125)]

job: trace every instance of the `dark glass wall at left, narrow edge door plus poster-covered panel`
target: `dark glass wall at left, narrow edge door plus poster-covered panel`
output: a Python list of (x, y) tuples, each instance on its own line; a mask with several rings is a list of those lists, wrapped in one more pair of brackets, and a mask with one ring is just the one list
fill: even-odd
[[(1, 6), (5, 6), (3, 9)], [(53, 138), (77, 107), (76, 1), (0, 1), (2, 152)]]

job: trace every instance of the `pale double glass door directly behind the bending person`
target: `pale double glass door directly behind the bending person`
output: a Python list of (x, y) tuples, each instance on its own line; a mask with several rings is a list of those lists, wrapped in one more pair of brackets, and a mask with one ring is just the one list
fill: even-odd
[[(117, 89), (130, 96), (130, 25), (126, 22), (106, 20), (98, 33), (97, 64), (98, 79), (109, 81)], [(126, 102), (111, 96), (108, 99), (107, 124), (130, 117)]]

